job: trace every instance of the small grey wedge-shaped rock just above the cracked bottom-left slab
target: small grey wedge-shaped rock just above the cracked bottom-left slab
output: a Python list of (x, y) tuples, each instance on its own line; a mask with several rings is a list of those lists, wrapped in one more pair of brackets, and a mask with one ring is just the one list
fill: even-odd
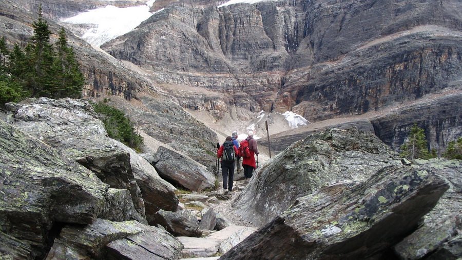
[(109, 188), (106, 204), (98, 218), (117, 222), (135, 220), (147, 224), (146, 218), (134, 208), (130, 191), (127, 189)]

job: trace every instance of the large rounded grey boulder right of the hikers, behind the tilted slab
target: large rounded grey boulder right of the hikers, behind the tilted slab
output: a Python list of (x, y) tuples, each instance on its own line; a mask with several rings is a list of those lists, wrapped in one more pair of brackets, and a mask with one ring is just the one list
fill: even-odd
[(297, 197), (335, 181), (364, 181), (390, 165), (402, 165), (398, 154), (371, 132), (328, 129), (294, 143), (258, 169), (233, 207), (262, 226)]

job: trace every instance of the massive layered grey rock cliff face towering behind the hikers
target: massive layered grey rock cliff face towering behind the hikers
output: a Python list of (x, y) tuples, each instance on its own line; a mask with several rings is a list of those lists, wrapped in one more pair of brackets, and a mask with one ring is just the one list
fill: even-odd
[[(456, 85), (458, 1), (267, 1), (168, 6), (102, 46), (158, 82), (227, 94), (229, 105), (312, 122)], [(247, 106), (248, 105), (244, 105)]]

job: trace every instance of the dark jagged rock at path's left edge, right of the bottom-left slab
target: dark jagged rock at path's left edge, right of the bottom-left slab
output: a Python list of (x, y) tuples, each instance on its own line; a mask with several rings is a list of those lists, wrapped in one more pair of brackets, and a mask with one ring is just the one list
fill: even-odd
[(189, 210), (178, 210), (176, 212), (159, 210), (156, 213), (156, 218), (157, 223), (172, 235), (195, 237), (202, 235), (197, 217), (192, 215)]

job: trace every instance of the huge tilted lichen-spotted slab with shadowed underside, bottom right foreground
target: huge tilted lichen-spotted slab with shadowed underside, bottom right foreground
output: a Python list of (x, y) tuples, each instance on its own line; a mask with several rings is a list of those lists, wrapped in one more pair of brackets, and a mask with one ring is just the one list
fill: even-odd
[[(442, 165), (440, 165), (442, 166)], [(364, 259), (414, 231), (449, 185), (444, 167), (391, 166), (366, 182), (343, 182), (294, 205), (221, 259)]]

